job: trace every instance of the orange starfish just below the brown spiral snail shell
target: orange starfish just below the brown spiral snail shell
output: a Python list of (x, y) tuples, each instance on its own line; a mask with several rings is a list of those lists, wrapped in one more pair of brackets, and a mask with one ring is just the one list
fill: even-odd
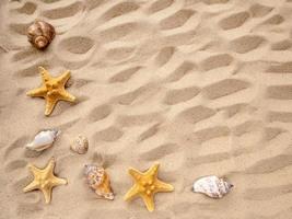
[(43, 85), (28, 91), (26, 94), (28, 96), (44, 97), (46, 100), (46, 116), (51, 114), (58, 101), (75, 101), (75, 96), (65, 90), (65, 84), (70, 78), (70, 71), (66, 71), (61, 76), (52, 78), (43, 67), (39, 67), (38, 70), (42, 74)]

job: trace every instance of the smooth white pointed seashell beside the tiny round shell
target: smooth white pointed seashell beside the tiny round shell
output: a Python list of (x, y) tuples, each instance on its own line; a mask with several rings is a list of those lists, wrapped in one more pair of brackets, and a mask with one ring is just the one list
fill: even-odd
[(43, 151), (52, 146), (56, 137), (60, 134), (60, 130), (43, 130), (38, 132), (31, 143), (27, 143), (25, 148), (35, 151)]

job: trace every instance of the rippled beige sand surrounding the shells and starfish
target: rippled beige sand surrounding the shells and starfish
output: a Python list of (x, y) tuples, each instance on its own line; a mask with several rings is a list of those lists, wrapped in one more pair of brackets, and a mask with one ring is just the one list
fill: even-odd
[[(292, 217), (291, 0), (12, 0), (1, 1), (0, 218), (288, 219)], [(42, 53), (25, 36), (34, 19), (58, 32)], [(74, 105), (44, 116), (44, 100), (25, 96), (40, 83), (38, 66), (72, 71)], [(24, 145), (42, 128), (62, 135), (40, 154)], [(90, 150), (69, 150), (78, 134)], [(103, 153), (116, 192), (97, 199), (83, 165)], [(26, 164), (46, 164), (68, 186), (51, 205), (24, 194)], [(175, 192), (159, 194), (149, 214), (125, 203), (128, 166), (161, 163)], [(233, 192), (213, 200), (190, 192), (217, 174)]]

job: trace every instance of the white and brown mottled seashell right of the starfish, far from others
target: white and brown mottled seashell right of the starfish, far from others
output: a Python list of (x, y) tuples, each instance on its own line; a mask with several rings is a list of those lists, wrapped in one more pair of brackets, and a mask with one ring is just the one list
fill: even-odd
[(201, 177), (192, 186), (195, 193), (202, 193), (212, 198), (222, 198), (232, 187), (232, 184), (215, 175)]

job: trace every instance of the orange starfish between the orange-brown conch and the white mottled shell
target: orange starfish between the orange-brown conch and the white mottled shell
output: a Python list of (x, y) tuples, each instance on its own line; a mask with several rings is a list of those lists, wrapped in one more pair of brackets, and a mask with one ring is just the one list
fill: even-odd
[(135, 185), (125, 195), (125, 200), (130, 200), (140, 196), (144, 200), (148, 210), (153, 211), (154, 194), (174, 191), (171, 184), (164, 183), (157, 178), (159, 166), (160, 164), (156, 163), (144, 173), (135, 169), (129, 169), (129, 174), (133, 177)]

